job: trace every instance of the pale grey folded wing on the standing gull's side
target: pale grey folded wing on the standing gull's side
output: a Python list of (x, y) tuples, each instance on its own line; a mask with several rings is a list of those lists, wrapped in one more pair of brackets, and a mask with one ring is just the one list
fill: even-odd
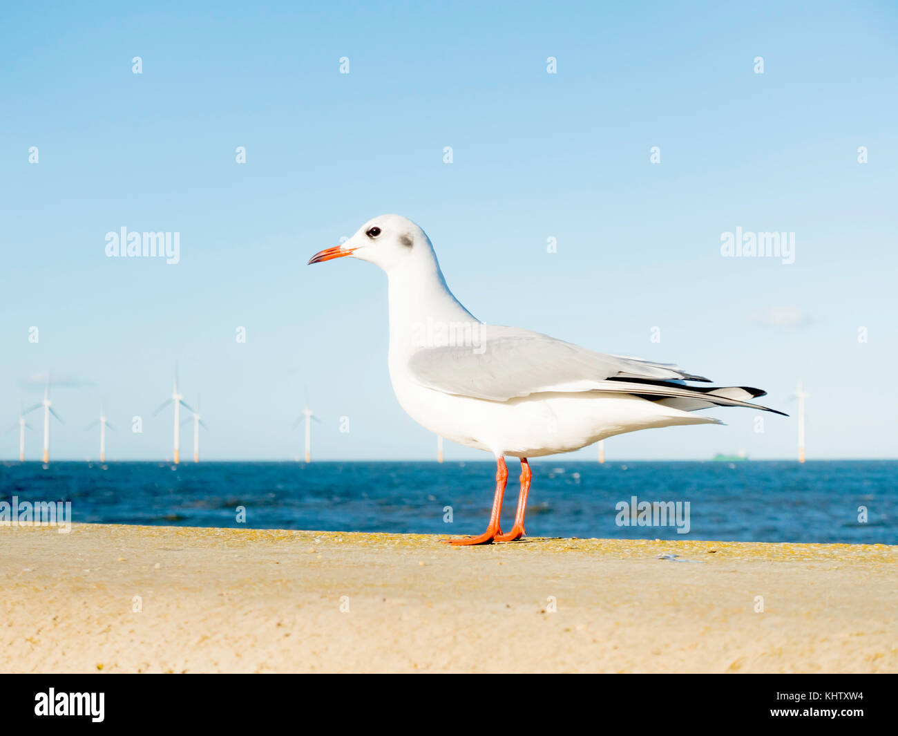
[[(421, 386), (445, 394), (507, 401), (548, 391), (621, 390), (608, 379), (708, 381), (665, 363), (586, 350), (549, 335), (480, 325), (471, 344), (417, 350), (409, 359)], [(604, 386), (603, 386), (604, 384)]]

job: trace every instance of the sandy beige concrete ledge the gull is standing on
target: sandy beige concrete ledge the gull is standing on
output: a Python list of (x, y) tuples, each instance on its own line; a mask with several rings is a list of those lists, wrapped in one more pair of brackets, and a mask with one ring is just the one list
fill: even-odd
[(898, 671), (898, 546), (75, 525), (0, 554), (4, 672)]

